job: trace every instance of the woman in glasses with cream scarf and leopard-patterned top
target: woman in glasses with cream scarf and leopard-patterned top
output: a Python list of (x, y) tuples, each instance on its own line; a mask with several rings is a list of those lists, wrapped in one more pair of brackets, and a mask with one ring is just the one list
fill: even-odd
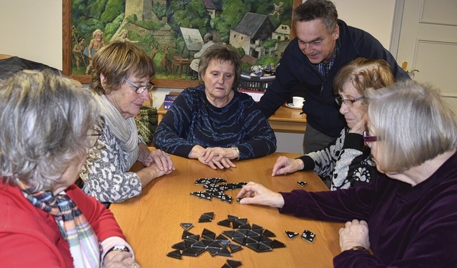
[[(101, 202), (121, 202), (141, 194), (174, 165), (168, 154), (152, 152), (138, 135), (134, 116), (149, 100), (154, 62), (129, 42), (115, 41), (94, 56), (91, 90), (101, 109), (101, 136), (81, 170), (83, 190)], [(145, 168), (129, 172), (140, 161)]]

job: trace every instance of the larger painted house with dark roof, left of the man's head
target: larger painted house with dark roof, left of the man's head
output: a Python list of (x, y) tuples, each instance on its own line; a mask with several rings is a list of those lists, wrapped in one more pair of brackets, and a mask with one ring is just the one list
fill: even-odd
[(271, 38), (273, 31), (275, 28), (268, 16), (248, 12), (235, 29), (230, 30), (230, 44), (235, 48), (243, 48), (248, 56), (260, 58), (265, 55), (262, 42)]

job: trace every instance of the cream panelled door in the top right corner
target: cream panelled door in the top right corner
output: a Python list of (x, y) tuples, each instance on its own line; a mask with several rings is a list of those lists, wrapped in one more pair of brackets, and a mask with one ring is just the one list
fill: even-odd
[(418, 70), (411, 77), (439, 88), (457, 113), (457, 1), (398, 0), (396, 12), (398, 64)]

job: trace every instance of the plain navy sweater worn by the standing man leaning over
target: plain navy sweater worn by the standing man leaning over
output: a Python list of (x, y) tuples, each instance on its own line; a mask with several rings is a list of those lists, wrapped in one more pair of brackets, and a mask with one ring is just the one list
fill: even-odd
[(410, 79), (395, 58), (370, 33), (348, 26), (338, 20), (340, 35), (336, 46), (339, 53), (326, 79), (318, 73), (315, 64), (310, 63), (298, 48), (297, 39), (288, 44), (276, 68), (276, 79), (258, 102), (262, 113), (270, 117), (291, 95), (296, 86), (306, 90), (303, 112), (308, 124), (321, 133), (336, 138), (346, 126), (343, 115), (338, 112), (333, 93), (333, 78), (338, 70), (353, 59), (381, 58), (392, 67), (396, 80)]

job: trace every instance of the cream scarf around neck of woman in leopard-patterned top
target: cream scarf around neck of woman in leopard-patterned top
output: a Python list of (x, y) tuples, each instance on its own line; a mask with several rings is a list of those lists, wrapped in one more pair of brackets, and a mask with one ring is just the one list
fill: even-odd
[(139, 138), (133, 117), (125, 119), (119, 110), (114, 107), (105, 95), (98, 96), (97, 101), (101, 110), (101, 115), (106, 120), (106, 125), (114, 133), (116, 138), (121, 140), (122, 150), (127, 152), (128, 169), (131, 168), (139, 157)]

